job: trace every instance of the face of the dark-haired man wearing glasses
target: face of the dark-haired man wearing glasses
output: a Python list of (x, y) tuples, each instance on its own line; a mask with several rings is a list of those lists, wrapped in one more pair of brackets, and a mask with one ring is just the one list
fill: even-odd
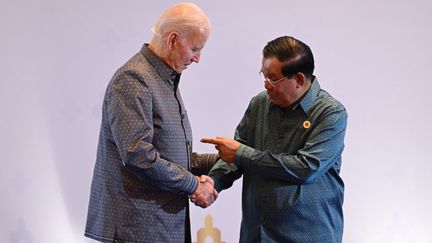
[[(261, 72), (267, 79), (276, 81), (284, 78), (281, 73), (282, 66), (283, 63), (276, 57), (263, 58)], [(283, 108), (290, 107), (301, 96), (297, 80), (294, 76), (282, 79), (273, 85), (271, 82), (265, 81), (264, 88), (267, 90), (270, 100), (275, 105)]]

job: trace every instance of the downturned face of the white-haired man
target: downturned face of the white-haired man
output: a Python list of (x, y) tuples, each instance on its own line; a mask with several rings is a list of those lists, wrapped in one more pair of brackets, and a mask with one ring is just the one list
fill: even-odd
[(198, 63), (208, 37), (209, 31), (206, 29), (193, 31), (186, 37), (178, 36), (171, 43), (171, 52), (167, 57), (168, 64), (177, 73), (181, 73), (193, 62)]

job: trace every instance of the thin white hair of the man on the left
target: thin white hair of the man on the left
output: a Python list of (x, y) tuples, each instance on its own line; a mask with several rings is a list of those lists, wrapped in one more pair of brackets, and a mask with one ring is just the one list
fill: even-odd
[(197, 5), (178, 3), (159, 17), (152, 31), (158, 37), (164, 37), (172, 31), (177, 31), (184, 37), (194, 30), (209, 28), (210, 20)]

